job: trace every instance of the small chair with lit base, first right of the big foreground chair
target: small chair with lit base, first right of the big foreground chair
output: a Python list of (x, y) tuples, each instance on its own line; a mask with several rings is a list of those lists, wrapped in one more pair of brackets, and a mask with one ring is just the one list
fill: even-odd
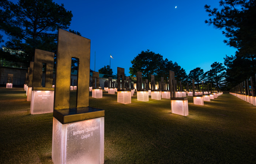
[(93, 71), (93, 98), (102, 98), (102, 88), (99, 87), (99, 73)]

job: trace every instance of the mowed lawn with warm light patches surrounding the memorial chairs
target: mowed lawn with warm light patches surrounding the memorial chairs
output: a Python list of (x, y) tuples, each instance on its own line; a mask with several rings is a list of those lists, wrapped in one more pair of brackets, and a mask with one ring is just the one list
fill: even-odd
[[(23, 89), (0, 88), (0, 163), (52, 163), (52, 113), (30, 114)], [(72, 91), (72, 96), (74, 92)], [(256, 163), (256, 106), (223, 94), (189, 115), (170, 100), (117, 102), (103, 91), (90, 106), (105, 110), (105, 163)]]

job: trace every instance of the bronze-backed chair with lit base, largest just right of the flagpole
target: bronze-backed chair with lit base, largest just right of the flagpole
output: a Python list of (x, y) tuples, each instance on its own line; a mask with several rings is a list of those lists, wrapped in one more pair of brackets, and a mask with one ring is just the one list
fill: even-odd
[(122, 104), (131, 104), (131, 89), (126, 88), (124, 82), (124, 68), (117, 67), (117, 102)]

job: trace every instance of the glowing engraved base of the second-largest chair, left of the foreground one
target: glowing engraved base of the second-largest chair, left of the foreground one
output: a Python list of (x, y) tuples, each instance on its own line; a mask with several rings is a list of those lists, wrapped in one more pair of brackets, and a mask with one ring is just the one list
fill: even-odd
[(31, 114), (53, 112), (54, 91), (33, 90), (30, 103)]

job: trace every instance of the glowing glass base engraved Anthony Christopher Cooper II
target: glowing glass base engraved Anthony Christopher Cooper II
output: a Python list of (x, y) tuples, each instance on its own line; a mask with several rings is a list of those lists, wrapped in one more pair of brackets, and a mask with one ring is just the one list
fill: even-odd
[(61, 124), (53, 117), (54, 164), (103, 164), (104, 117)]

